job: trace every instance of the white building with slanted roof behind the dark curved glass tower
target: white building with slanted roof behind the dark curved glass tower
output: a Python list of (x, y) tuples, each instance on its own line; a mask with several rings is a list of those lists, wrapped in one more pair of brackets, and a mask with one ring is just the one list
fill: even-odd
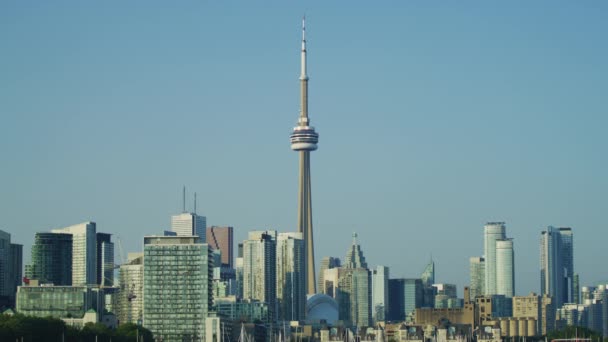
[(72, 285), (97, 284), (97, 236), (95, 222), (84, 222), (52, 233), (72, 235)]

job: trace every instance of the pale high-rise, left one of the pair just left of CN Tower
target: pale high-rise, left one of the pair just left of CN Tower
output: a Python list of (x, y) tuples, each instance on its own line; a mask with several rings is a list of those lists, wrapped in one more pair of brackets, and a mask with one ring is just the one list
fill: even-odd
[(277, 232), (252, 231), (243, 241), (243, 298), (268, 304), (270, 317), (277, 306)]

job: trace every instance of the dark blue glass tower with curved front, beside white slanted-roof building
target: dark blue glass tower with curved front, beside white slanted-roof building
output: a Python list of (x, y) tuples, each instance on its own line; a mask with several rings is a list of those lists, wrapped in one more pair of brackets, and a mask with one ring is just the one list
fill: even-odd
[(72, 285), (72, 234), (36, 233), (25, 276), (40, 283)]

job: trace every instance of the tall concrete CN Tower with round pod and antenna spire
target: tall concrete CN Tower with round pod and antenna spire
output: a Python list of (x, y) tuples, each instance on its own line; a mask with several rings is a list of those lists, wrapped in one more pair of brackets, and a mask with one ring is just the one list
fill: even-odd
[(302, 55), (300, 68), (300, 117), (291, 133), (291, 149), (300, 155), (298, 185), (298, 232), (304, 237), (306, 256), (306, 293), (315, 294), (315, 249), (312, 236), (312, 200), (310, 195), (310, 152), (317, 149), (319, 135), (308, 119), (308, 75), (306, 74), (306, 25), (302, 19)]

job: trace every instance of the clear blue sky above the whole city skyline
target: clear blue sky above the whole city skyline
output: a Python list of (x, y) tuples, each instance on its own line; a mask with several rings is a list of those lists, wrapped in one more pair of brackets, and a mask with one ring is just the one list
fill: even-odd
[(26, 261), (87, 220), (137, 251), (185, 184), (237, 240), (295, 230), (304, 13), (317, 260), (356, 231), (370, 265), (432, 254), (462, 296), (506, 221), (517, 294), (547, 225), (573, 228), (583, 285), (608, 280), (605, 1), (2, 1), (0, 229)]

